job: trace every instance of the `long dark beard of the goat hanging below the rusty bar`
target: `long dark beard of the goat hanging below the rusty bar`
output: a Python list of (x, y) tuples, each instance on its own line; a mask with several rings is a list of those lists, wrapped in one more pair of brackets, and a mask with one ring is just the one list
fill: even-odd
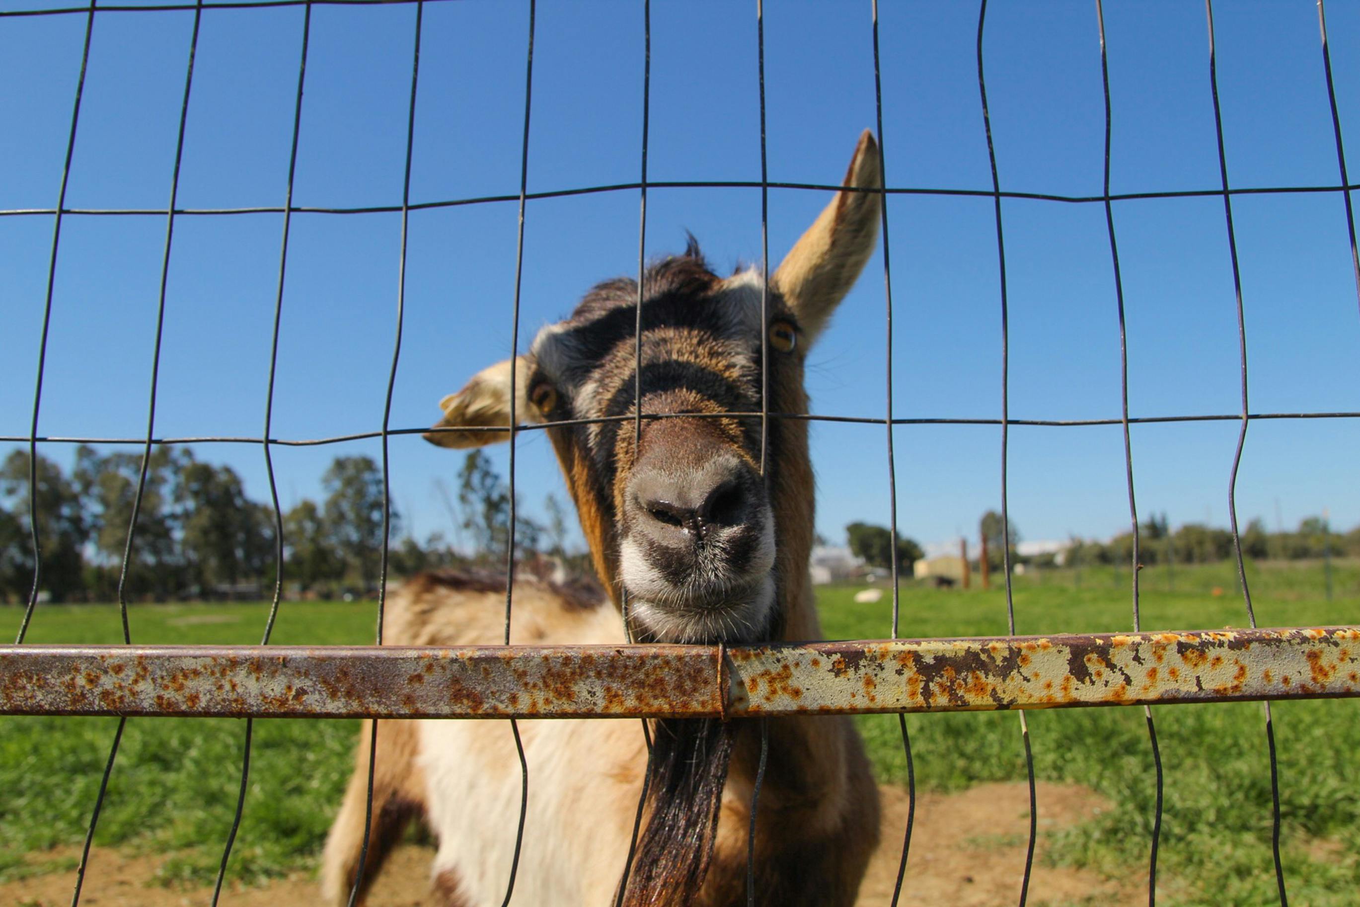
[(681, 907), (699, 896), (713, 862), (733, 726), (715, 718), (662, 718), (653, 728), (650, 817), (623, 903)]

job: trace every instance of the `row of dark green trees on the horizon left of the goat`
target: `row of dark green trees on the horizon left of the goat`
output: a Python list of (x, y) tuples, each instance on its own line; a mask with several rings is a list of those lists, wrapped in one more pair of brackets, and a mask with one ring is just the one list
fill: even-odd
[[(31, 470), (39, 589), (52, 601), (113, 601), (120, 582), (128, 601), (268, 596), (280, 538), (290, 596), (377, 590), (384, 485), (371, 457), (336, 457), (321, 479), (324, 498), (282, 511), (252, 500), (231, 466), (199, 460), (189, 447), (159, 446), (143, 462), (140, 453), (82, 445), (69, 473), (41, 454)], [(401, 534), (401, 514), (389, 502), (389, 575), (505, 564), (510, 492), (480, 450), (458, 472), (457, 506), (447, 503), (464, 540), (458, 547), (442, 533), (424, 541)], [(567, 551), (562, 506), (549, 496), (544, 509), (545, 522), (515, 509), (517, 558), (547, 555), (583, 567), (583, 556)], [(15, 450), (0, 465), (0, 601), (29, 598), (31, 532), (29, 451)]]

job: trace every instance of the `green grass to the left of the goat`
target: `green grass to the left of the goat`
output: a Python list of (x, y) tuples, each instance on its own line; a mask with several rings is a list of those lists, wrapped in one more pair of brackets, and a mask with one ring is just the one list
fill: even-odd
[[(260, 604), (139, 605), (132, 638), (257, 643), (267, 612)], [(373, 602), (288, 602), (272, 642), (356, 645), (371, 642), (373, 630)], [(116, 608), (45, 605), (27, 640), (121, 638)], [(24, 853), (83, 840), (116, 726), (116, 718), (0, 718), (0, 880), (31, 872)], [(356, 721), (254, 722), (231, 878), (256, 883), (314, 861), (350, 776), (356, 732)], [(239, 719), (129, 719), (95, 843), (173, 854), (160, 870), (166, 884), (211, 883), (241, 786), (243, 741)]]

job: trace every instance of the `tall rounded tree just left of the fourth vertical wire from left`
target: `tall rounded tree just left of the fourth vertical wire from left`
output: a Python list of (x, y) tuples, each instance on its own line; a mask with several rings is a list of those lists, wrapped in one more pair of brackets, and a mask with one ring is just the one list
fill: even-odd
[[(322, 519), (330, 545), (358, 571), (364, 590), (373, 589), (382, 563), (382, 470), (373, 457), (336, 457), (321, 487), (326, 492)], [(397, 509), (389, 503), (390, 536), (396, 536), (397, 525)]]

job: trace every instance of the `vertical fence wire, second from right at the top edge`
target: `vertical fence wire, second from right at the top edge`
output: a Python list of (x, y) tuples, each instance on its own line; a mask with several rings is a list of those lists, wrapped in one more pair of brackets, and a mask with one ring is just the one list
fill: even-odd
[[(1228, 254), (1232, 261), (1232, 290), (1238, 307), (1238, 355), (1242, 363), (1242, 428), (1238, 431), (1238, 447), (1232, 456), (1232, 470), (1228, 476), (1228, 519), (1232, 525), (1232, 549), (1238, 559), (1238, 581), (1242, 583), (1242, 598), (1247, 608), (1247, 620), (1257, 626), (1257, 613), (1251, 606), (1251, 586), (1247, 583), (1247, 570), (1242, 558), (1242, 536), (1238, 532), (1238, 469), (1242, 465), (1242, 447), (1247, 441), (1250, 424), (1247, 409), (1247, 326), (1242, 307), (1242, 269), (1238, 264), (1238, 235), (1232, 226), (1232, 196), (1228, 192), (1228, 156), (1223, 143), (1223, 110), (1219, 103), (1219, 68), (1213, 41), (1213, 0), (1204, 0), (1205, 19), (1209, 31), (1209, 88), (1213, 94), (1213, 126), (1219, 140), (1219, 178), (1223, 185), (1223, 213), (1228, 228)], [(1288, 907), (1285, 893), (1284, 865), (1280, 859), (1280, 764), (1276, 756), (1274, 722), (1270, 717), (1270, 703), (1262, 703), (1266, 719), (1266, 748), (1270, 755), (1270, 851), (1274, 858), (1276, 888), (1280, 892), (1281, 907)]]

